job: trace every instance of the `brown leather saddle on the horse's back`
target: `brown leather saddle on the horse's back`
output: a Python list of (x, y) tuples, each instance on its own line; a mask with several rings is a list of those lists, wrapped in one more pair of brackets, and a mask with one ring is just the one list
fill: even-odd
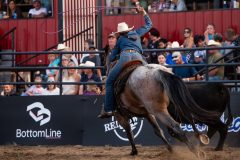
[(139, 66), (142, 66), (141, 60), (129, 61), (123, 65), (121, 72), (119, 73), (115, 83), (114, 83), (114, 95), (117, 102), (117, 108), (121, 106), (120, 94), (124, 91), (124, 87), (128, 80), (128, 77), (132, 72)]

